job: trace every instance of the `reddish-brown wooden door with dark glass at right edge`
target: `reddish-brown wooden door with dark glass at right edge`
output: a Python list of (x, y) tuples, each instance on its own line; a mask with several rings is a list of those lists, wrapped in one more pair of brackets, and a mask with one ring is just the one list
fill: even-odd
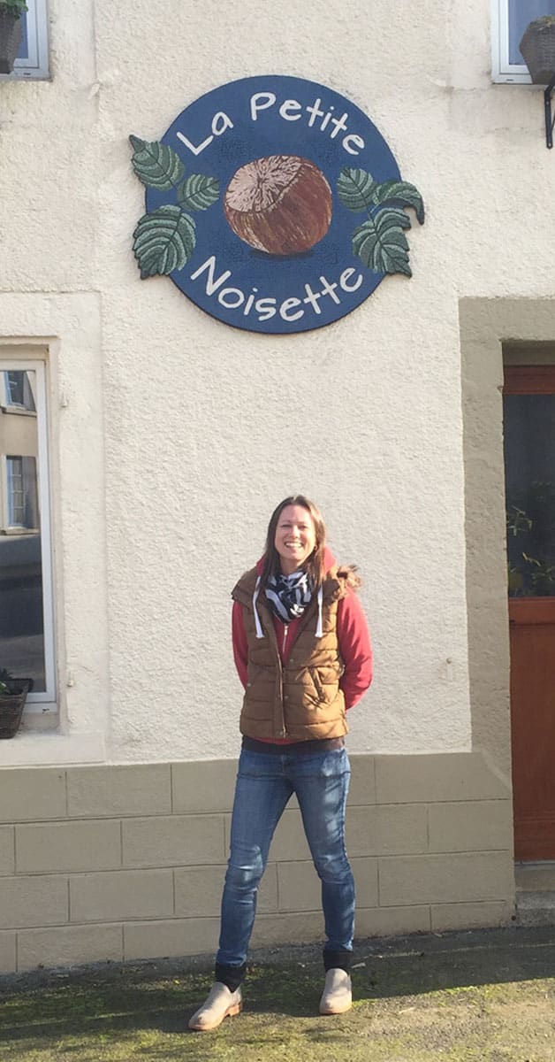
[(555, 859), (555, 366), (506, 366), (515, 856)]

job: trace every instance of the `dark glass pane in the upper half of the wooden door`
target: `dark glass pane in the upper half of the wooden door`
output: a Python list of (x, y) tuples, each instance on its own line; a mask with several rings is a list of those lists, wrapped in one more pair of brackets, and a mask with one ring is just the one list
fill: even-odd
[(505, 395), (508, 592), (555, 596), (555, 395)]

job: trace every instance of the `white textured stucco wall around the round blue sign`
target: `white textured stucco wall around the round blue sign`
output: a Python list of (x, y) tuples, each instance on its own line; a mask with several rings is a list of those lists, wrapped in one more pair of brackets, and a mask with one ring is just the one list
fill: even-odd
[[(458, 301), (548, 297), (555, 245), (541, 95), (491, 84), (488, 0), (49, 6), (52, 82), (0, 85), (0, 332), (55, 337), (52, 378), (74, 397), (62, 427), (51, 396), (60, 726), (82, 742), (65, 755), (236, 754), (229, 590), (297, 491), (364, 577), (376, 681), (350, 749), (468, 749)], [(428, 208), (411, 280), (293, 337), (208, 318), (169, 278), (141, 281), (131, 250), (128, 135), (158, 139), (204, 92), (265, 72), (357, 103)], [(86, 526), (65, 489), (77, 446)], [(2, 754), (56, 761), (47, 740)]]

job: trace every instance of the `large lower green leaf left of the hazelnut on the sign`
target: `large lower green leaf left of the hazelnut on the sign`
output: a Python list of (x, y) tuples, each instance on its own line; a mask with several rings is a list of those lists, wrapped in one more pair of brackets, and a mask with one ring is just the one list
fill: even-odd
[(141, 277), (183, 269), (196, 243), (194, 221), (178, 206), (167, 204), (145, 213), (133, 234), (133, 250)]

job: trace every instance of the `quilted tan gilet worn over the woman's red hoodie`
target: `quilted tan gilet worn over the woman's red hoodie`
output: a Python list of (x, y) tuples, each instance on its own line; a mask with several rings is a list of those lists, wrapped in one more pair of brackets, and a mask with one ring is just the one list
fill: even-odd
[(231, 597), (243, 606), (248, 643), (248, 675), (240, 731), (259, 741), (291, 741), (342, 737), (347, 733), (345, 699), (340, 689), (344, 665), (337, 644), (337, 604), (347, 593), (348, 571), (331, 568), (323, 583), (323, 634), (317, 638), (318, 609), (314, 596), (299, 621), (285, 664), (282, 664), (272, 613), (264, 595), (257, 612), (264, 632), (257, 638), (253, 595), (257, 569), (239, 580)]

